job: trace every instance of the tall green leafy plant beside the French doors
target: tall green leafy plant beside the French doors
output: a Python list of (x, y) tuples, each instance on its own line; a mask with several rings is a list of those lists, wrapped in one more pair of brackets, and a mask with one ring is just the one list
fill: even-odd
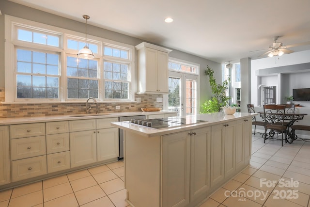
[(231, 99), (230, 96), (226, 96), (226, 89), (228, 89), (230, 78), (224, 80), (221, 84), (217, 84), (216, 79), (213, 77), (213, 73), (214, 71), (207, 65), (204, 74), (209, 76), (213, 97), (202, 104), (202, 113), (218, 112), (222, 107), (228, 106), (229, 100)]

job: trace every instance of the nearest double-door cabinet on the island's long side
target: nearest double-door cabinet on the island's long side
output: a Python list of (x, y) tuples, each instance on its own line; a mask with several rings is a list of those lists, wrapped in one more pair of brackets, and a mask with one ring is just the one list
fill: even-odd
[[(162, 206), (195, 206), (210, 188), (210, 127), (162, 136)], [(172, 181), (172, 183), (171, 183)]]

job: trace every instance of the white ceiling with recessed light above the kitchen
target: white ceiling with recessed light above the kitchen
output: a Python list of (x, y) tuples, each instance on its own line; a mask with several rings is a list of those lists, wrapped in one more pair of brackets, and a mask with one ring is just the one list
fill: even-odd
[(310, 41), (310, 0), (11, 1), (80, 22), (87, 14), (88, 24), (218, 63), (258, 58), (264, 51), (249, 51), (268, 48), (274, 36), (283, 45)]

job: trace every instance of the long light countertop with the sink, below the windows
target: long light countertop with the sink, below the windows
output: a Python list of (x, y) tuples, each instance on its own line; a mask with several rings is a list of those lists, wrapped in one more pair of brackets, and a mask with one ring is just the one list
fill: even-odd
[[(0, 118), (0, 126), (13, 125), (13, 124), (29, 124), (38, 122), (55, 122), (55, 121), (70, 121), (70, 120), (81, 120), (81, 119), (100, 119), (100, 118), (111, 118), (111, 117), (122, 117), (122, 116), (137, 116), (137, 115), (151, 115), (160, 113), (175, 113), (175, 111), (154, 111), (154, 112), (143, 112), (143, 111), (132, 111), (132, 112), (107, 112), (98, 114), (72, 114), (72, 115), (57, 115), (57, 116), (33, 116), (33, 117), (16, 117), (16, 118)], [(82, 116), (77, 116), (82, 115)]]

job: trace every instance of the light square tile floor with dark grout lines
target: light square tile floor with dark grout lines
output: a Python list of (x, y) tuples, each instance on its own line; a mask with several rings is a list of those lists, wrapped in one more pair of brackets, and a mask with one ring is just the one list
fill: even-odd
[[(0, 207), (126, 207), (124, 198), (119, 161), (0, 191)], [(310, 207), (309, 198), (310, 142), (253, 135), (250, 166), (201, 207)]]

